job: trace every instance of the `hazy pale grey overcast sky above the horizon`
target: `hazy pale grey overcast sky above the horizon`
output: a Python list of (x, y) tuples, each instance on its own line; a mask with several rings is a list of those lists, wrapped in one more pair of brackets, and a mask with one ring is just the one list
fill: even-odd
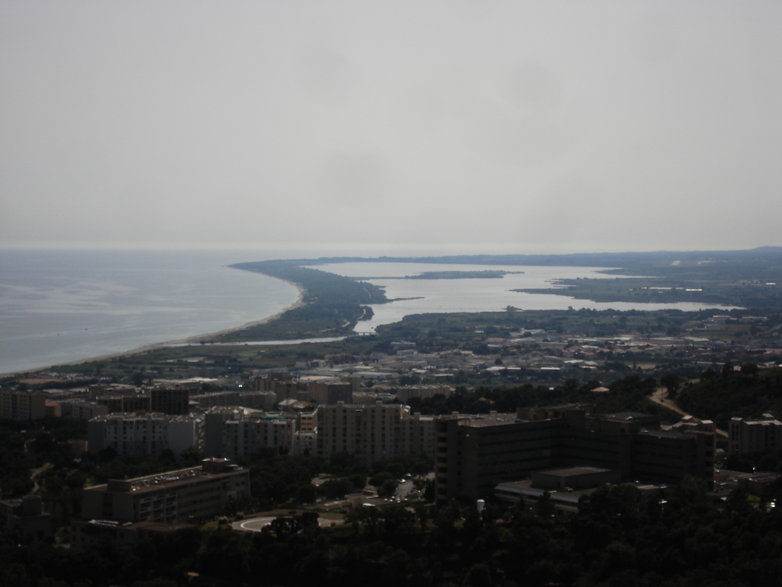
[(0, 9), (2, 247), (782, 245), (782, 2)]

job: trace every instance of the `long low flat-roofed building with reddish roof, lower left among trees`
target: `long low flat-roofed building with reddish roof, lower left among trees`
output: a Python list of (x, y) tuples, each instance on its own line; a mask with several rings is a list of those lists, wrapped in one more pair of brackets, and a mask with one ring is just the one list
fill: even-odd
[(249, 491), (249, 471), (228, 459), (135, 479), (109, 479), (84, 488), (85, 520), (203, 522), (222, 513), (231, 497)]

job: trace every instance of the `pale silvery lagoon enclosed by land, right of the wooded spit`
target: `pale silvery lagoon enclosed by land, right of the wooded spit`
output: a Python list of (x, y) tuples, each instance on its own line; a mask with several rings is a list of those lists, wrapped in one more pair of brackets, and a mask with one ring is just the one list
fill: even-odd
[[(335, 263), (317, 265), (321, 269), (351, 277), (404, 277), (430, 271), (523, 271), (521, 275), (505, 275), (501, 279), (367, 279), (369, 283), (383, 286), (386, 297), (420, 299), (374, 304), (375, 315), (371, 320), (359, 322), (357, 332), (373, 332), (376, 326), (399, 322), (405, 315), (426, 312), (499, 312), (508, 306), (522, 310), (566, 310), (594, 308), (605, 310), (662, 310), (676, 308), (683, 311), (719, 308), (716, 305), (693, 302), (675, 304), (640, 304), (630, 302), (598, 303), (576, 300), (557, 294), (522, 294), (516, 289), (550, 288), (552, 279), (606, 278), (614, 275), (598, 273), (601, 267), (539, 267), (518, 265), (437, 265), (423, 263)], [(621, 276), (617, 276), (621, 280)], [(723, 309), (726, 307), (723, 306)]]

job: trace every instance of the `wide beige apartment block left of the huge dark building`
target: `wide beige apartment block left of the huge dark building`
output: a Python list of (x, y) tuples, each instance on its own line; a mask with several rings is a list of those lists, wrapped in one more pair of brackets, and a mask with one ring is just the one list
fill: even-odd
[(364, 463), (396, 459), (414, 452), (434, 456), (435, 418), (411, 415), (406, 405), (319, 405), (317, 456), (349, 452)]

